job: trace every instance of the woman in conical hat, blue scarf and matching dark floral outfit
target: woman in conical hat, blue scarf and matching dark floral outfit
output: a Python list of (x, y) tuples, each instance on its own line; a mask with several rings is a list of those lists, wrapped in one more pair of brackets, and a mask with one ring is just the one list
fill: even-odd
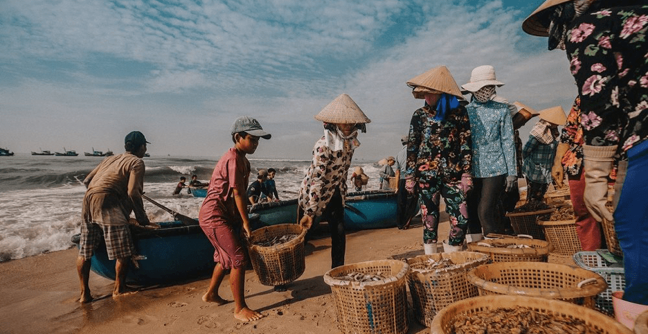
[(412, 115), (405, 188), (420, 195), (425, 254), (438, 252), (439, 200), (444, 197), (451, 229), (444, 252), (456, 252), (468, 223), (465, 196), (471, 186), (471, 132), (461, 91), (447, 67), (435, 67), (407, 82), (424, 106)]

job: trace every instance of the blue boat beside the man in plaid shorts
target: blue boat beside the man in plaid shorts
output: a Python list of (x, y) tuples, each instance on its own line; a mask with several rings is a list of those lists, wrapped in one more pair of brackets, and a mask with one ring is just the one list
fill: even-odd
[[(129, 266), (126, 281), (140, 285), (168, 283), (209, 276), (214, 269), (214, 247), (198, 225), (160, 222), (156, 230), (134, 230), (138, 268)], [(72, 237), (79, 243), (80, 235)], [(109, 260), (105, 247), (92, 256), (91, 270), (115, 279), (115, 260)]]

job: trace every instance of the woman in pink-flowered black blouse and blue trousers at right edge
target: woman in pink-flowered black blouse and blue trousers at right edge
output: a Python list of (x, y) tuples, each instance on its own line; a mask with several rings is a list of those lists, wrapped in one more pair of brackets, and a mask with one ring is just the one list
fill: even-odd
[[(624, 252), (623, 299), (648, 305), (648, 6), (645, 0), (548, 0), (523, 21), (548, 48), (566, 51), (580, 96), (584, 202), (595, 219), (614, 220)], [(614, 213), (607, 177), (620, 156)], [(632, 182), (624, 184), (624, 178)], [(639, 238), (639, 240), (638, 240)]]

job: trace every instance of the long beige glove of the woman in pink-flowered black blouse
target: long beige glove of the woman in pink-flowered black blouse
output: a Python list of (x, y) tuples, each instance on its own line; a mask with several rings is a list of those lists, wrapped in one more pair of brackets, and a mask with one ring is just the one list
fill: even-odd
[(605, 207), (607, 202), (608, 175), (612, 170), (616, 146), (583, 145), (585, 173), (584, 202), (592, 217), (602, 222), (613, 221), (612, 213)]

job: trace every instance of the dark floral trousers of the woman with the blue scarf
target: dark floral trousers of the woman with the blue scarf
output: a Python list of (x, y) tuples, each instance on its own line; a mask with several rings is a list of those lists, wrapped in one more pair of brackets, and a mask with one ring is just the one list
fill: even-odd
[(466, 197), (459, 182), (447, 182), (443, 177), (421, 177), (418, 182), (421, 217), (423, 220), (423, 243), (438, 241), (439, 200), (443, 196), (450, 216), (450, 245), (462, 245), (468, 227)]

